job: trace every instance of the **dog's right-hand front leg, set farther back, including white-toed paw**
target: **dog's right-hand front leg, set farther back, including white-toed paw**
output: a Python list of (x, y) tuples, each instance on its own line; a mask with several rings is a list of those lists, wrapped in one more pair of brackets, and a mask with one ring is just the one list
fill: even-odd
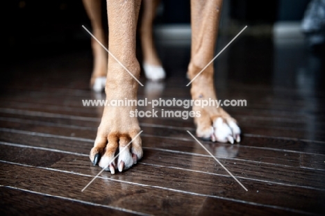
[[(213, 59), (219, 27), (222, 0), (191, 1), (192, 50), (188, 67), (191, 80)], [(216, 100), (213, 85), (213, 64), (209, 65), (192, 82), (193, 100)], [(240, 128), (235, 119), (216, 106), (193, 106), (197, 136), (219, 142), (240, 142)]]

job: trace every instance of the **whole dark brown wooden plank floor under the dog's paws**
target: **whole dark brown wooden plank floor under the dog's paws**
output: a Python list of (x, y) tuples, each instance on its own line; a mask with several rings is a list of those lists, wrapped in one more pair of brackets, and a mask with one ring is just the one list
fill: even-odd
[[(218, 50), (231, 38), (220, 38)], [(160, 44), (165, 83), (145, 81), (139, 98), (190, 99), (188, 44)], [(219, 99), (242, 128), (240, 144), (201, 141), (192, 119), (141, 118), (144, 158), (103, 172), (88, 158), (101, 108), (88, 90), (89, 49), (26, 56), (3, 67), (0, 212), (6, 215), (324, 215), (324, 56), (303, 44), (238, 38), (215, 63)], [(163, 90), (163, 91), (159, 91)], [(160, 107), (161, 108), (161, 107)], [(140, 108), (143, 109), (143, 108)], [(178, 108), (165, 108), (165, 110)]]

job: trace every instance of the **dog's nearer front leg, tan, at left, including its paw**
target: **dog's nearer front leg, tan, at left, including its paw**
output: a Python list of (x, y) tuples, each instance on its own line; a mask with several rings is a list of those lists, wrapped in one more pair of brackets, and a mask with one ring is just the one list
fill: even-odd
[[(140, 9), (140, 0), (122, 1), (108, 0), (109, 50), (136, 78), (140, 76), (140, 65), (135, 56), (135, 31)], [(117, 63), (108, 58), (108, 74), (106, 81), (106, 99), (136, 100), (138, 82)], [(129, 104), (131, 105), (131, 104)], [(97, 131), (94, 147), (90, 151), (90, 160), (100, 167), (106, 167), (114, 158), (117, 149), (121, 151), (140, 132), (138, 119), (130, 113), (133, 106), (106, 106)], [(112, 174), (128, 169), (142, 158), (141, 139), (135, 138), (130, 151), (123, 151), (116, 161), (110, 163), (108, 169)]]

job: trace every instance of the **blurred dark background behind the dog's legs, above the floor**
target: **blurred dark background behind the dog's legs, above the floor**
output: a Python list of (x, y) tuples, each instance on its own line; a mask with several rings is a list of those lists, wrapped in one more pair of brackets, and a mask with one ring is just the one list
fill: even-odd
[[(301, 19), (310, 2), (224, 0), (217, 50), (221, 50), (244, 26), (249, 28), (235, 41), (236, 45), (232, 44), (215, 61), (218, 85), (225, 85), (225, 80), (230, 78), (246, 83), (296, 86), (294, 77), (307, 71), (317, 81), (313, 85), (321, 88), (324, 47), (322, 54), (310, 53), (306, 35), (301, 30)], [(8, 17), (2, 26), (2, 46), (6, 55), (1, 65), (1, 83), (8, 83), (11, 76), (15, 76), (10, 72), (12, 65), (65, 54), (78, 56), (78, 53), (85, 53), (90, 60), (90, 76), (90, 35), (82, 25), (88, 29), (91, 25), (81, 0), (12, 0), (4, 1), (4, 4)], [(105, 27), (106, 1), (102, 1), (102, 5)], [(156, 12), (154, 29), (156, 47), (167, 75), (184, 76), (190, 59), (190, 0), (162, 0)], [(139, 40), (137, 46), (140, 48)], [(244, 54), (247, 52), (249, 56)], [(141, 54), (137, 55), (141, 63)], [(67, 58), (66, 61), (70, 60)], [(62, 61), (53, 61), (53, 64), (64, 65)], [(242, 67), (245, 65), (251, 66)], [(312, 76), (305, 75), (303, 80)]]

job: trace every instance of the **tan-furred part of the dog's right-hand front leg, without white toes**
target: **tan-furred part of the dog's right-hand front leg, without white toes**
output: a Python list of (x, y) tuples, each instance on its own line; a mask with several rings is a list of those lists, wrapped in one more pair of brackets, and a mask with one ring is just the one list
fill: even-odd
[[(191, 1), (192, 49), (188, 67), (191, 80), (214, 57), (221, 8), (222, 0)], [(211, 64), (192, 82), (192, 99), (217, 99), (213, 73)], [(196, 117), (194, 122), (197, 125), (197, 135), (204, 138), (209, 138), (210, 126), (217, 117), (230, 117), (222, 108), (194, 106), (193, 110), (201, 112), (201, 117)]]

